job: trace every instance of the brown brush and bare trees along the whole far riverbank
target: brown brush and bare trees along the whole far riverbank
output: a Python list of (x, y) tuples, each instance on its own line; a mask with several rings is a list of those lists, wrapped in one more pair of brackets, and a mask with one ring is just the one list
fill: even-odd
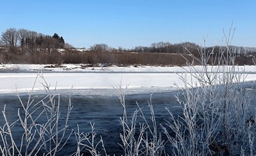
[[(171, 44), (156, 42), (150, 46), (137, 46), (132, 49), (113, 48), (106, 44), (94, 44), (89, 48), (74, 48), (58, 33), (53, 36), (26, 29), (10, 28), (2, 32), (0, 39), (0, 63), (13, 64), (142, 64), (142, 65), (186, 65), (200, 58), (197, 51), (204, 47), (211, 58), (219, 57), (220, 49), (225, 46), (205, 47), (193, 42)], [(229, 46), (236, 57), (237, 65), (253, 65), (256, 48)], [(182, 57), (182, 56), (183, 57)], [(194, 64), (200, 64), (194, 61)], [(209, 63), (210, 64), (210, 63)]]

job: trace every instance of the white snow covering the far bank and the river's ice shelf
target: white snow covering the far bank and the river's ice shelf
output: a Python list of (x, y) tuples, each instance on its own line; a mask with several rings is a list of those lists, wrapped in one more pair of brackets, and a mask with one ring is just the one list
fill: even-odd
[[(201, 72), (202, 67), (196, 66)], [(186, 73), (186, 67), (159, 67), (159, 66), (99, 66), (85, 67), (82, 64), (55, 65), (28, 65), (5, 64), (0, 65), (0, 92), (15, 92), (31, 90), (37, 77), (38, 70), (42, 70), (45, 81), (51, 88), (57, 89), (91, 89), (90, 92), (102, 92), (101, 89), (113, 89), (113, 86), (128, 85), (131, 90), (158, 91), (174, 89), (175, 85), (181, 86), (183, 82), (179, 74)], [(237, 72), (247, 74), (246, 81), (256, 81), (256, 66), (239, 66)], [(44, 82), (38, 76), (35, 90), (43, 90)]]

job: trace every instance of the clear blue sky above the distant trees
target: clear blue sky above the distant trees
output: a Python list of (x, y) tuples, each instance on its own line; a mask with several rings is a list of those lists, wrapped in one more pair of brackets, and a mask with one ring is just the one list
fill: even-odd
[(150, 46), (153, 42), (219, 45), (236, 28), (233, 45), (256, 47), (256, 1), (0, 0), (0, 32), (23, 28), (58, 33), (74, 47)]

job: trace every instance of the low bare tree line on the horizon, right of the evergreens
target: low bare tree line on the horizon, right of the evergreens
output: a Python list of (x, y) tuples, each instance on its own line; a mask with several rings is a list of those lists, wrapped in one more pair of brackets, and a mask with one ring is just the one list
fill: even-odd
[[(201, 46), (193, 42), (181, 42), (179, 44), (171, 44), (170, 42), (155, 42), (150, 46), (137, 46), (132, 49), (125, 49), (122, 47), (112, 48), (106, 44), (94, 44), (89, 48), (93, 51), (123, 51), (123, 52), (135, 52), (135, 53), (166, 53), (166, 54), (193, 54), (198, 55), (198, 49), (202, 48)], [(221, 46), (214, 47), (205, 47), (207, 53), (211, 53), (212, 56), (219, 55)], [(251, 47), (238, 47), (230, 46), (230, 51), (235, 53), (236, 57), (255, 57), (256, 48)], [(188, 52), (189, 51), (189, 52)], [(198, 56), (199, 57), (199, 56)]]

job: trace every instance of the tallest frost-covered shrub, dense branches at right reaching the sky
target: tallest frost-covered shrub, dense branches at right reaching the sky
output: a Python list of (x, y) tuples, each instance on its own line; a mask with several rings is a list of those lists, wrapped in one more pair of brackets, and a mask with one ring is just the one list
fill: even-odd
[(198, 48), (200, 57), (191, 56), (201, 66), (188, 62), (187, 73), (180, 74), (184, 86), (177, 100), (183, 114), (175, 116), (166, 108), (171, 117), (162, 125), (174, 147), (173, 155), (256, 153), (255, 111), (243, 85), (246, 75), (242, 67), (235, 66), (235, 54), (230, 50), (233, 34), (232, 29), (225, 34), (225, 46), (221, 46), (225, 48), (218, 55), (213, 56), (205, 46)]

